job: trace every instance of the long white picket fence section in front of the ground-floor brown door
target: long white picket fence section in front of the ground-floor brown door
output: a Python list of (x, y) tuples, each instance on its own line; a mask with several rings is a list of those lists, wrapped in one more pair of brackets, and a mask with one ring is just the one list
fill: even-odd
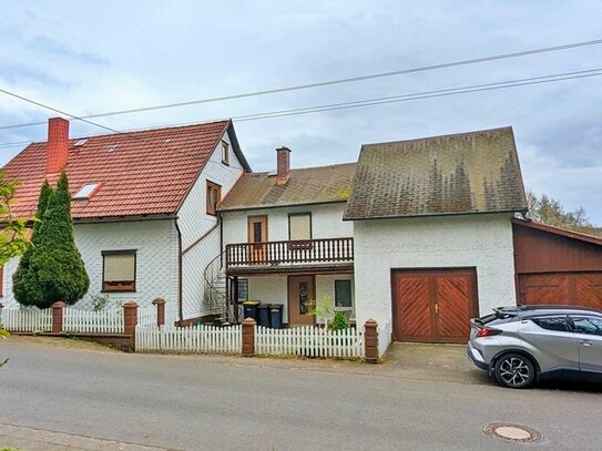
[(357, 329), (328, 330), (314, 326), (271, 329), (256, 326), (255, 353), (359, 358), (364, 356), (364, 332)]

